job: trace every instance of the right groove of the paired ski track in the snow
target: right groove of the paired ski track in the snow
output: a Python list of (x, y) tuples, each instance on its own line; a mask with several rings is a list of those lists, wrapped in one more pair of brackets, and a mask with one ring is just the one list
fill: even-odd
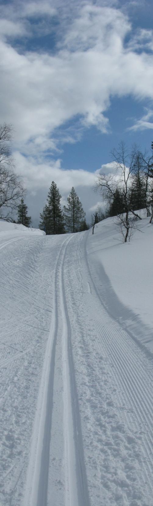
[[(65, 255), (66, 249), (63, 265)], [(60, 294), (63, 320), (65, 506), (90, 506), (63, 265), (60, 273)]]

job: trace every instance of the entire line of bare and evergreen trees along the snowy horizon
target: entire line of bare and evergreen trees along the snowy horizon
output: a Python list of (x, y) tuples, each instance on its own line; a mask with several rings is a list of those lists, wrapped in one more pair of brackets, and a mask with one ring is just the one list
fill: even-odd
[[(6, 123), (0, 125), (0, 219), (13, 222), (16, 213), (17, 223), (29, 227), (31, 216), (28, 216), (24, 202), (25, 189), (14, 170), (11, 140), (12, 126)], [(136, 146), (128, 151), (121, 143), (118, 149), (112, 151), (112, 159), (116, 172), (111, 175), (100, 172), (97, 177), (96, 188), (103, 197), (103, 203), (92, 216), (91, 225), (109, 216), (117, 216), (126, 242), (133, 226), (131, 214), (133, 220), (141, 219), (137, 211), (145, 208), (149, 222), (153, 221), (153, 142), (150, 155), (142, 153)], [(52, 181), (47, 203), (40, 214), (39, 227), (47, 235), (87, 230), (86, 214), (74, 188), (63, 209), (60, 200), (57, 185)]]

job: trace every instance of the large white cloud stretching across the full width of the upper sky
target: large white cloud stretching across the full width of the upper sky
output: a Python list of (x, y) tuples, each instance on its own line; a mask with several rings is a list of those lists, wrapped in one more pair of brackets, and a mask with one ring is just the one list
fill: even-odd
[[(39, 14), (54, 12), (52, 2), (27, 5), (31, 14), (37, 7)], [(22, 10), (23, 23), (27, 9)], [(153, 57), (124, 48), (130, 30), (127, 16), (119, 9), (86, 3), (66, 26), (62, 49), (60, 44), (54, 54), (49, 49), (19, 54), (16, 47), (1, 41), (1, 121), (14, 124), (17, 148), (28, 154), (30, 141), (33, 151), (36, 146), (37, 152), (39, 146), (43, 151), (48, 143), (49, 149), (56, 149), (58, 132), (57, 141), (52, 133), (75, 117), (81, 118), (84, 128), (96, 125), (106, 133), (106, 112), (113, 96), (153, 99)]]

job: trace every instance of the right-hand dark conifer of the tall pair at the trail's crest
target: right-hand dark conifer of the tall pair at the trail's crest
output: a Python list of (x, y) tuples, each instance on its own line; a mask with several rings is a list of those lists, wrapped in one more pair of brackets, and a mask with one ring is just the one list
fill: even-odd
[(68, 232), (79, 232), (82, 222), (85, 220), (82, 203), (72, 187), (67, 197), (67, 207), (64, 205), (64, 218)]

